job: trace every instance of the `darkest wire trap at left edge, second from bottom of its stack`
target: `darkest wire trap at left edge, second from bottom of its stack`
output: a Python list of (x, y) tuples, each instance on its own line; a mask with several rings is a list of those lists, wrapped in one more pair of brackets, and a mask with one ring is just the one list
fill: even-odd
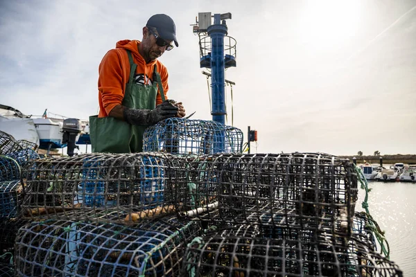
[[(28, 220), (20, 218), (1, 218), (0, 219), (0, 255), (2, 253), (15, 253), (15, 240), (17, 231), (21, 226), (28, 224)], [(2, 276), (0, 274), (0, 276)]]

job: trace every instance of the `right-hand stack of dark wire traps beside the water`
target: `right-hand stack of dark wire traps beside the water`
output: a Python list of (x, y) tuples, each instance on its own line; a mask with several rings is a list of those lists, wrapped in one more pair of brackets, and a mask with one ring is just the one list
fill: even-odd
[(299, 152), (178, 160), (176, 210), (207, 230), (188, 245), (182, 276), (401, 276), (354, 222), (348, 160)]

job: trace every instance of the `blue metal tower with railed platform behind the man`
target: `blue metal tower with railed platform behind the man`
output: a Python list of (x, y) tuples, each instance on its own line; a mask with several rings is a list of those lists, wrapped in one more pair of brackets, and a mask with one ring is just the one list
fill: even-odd
[[(236, 40), (227, 36), (225, 19), (231, 19), (231, 13), (214, 14), (211, 24), (211, 12), (200, 12), (198, 24), (193, 33), (200, 37), (200, 67), (211, 69), (212, 120), (225, 124), (225, 69), (236, 66)], [(234, 83), (233, 83), (234, 84)]]

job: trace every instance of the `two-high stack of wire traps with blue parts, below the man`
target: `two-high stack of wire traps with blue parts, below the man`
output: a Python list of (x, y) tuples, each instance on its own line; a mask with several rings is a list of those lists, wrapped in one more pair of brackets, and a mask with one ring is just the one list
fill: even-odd
[(178, 276), (200, 222), (177, 219), (164, 153), (84, 154), (24, 171), (17, 276)]

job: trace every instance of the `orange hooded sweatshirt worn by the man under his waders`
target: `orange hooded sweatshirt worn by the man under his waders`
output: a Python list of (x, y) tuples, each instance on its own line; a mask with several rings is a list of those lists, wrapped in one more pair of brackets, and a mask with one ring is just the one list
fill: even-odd
[[(128, 83), (130, 77), (130, 63), (125, 49), (132, 52), (132, 57), (137, 64), (136, 74), (144, 74), (147, 76), (144, 82), (148, 83), (148, 78), (153, 82), (153, 70), (157, 64), (157, 72), (162, 79), (162, 87), (165, 98), (168, 92), (168, 70), (158, 60), (154, 60), (146, 64), (146, 61), (139, 54), (140, 42), (137, 40), (121, 40), (116, 43), (116, 48), (105, 54), (100, 66), (98, 67), (98, 102), (100, 112), (98, 117), (106, 117), (110, 111), (121, 105), (125, 93), (125, 84)], [(160, 91), (157, 91), (156, 105), (162, 103)]]

